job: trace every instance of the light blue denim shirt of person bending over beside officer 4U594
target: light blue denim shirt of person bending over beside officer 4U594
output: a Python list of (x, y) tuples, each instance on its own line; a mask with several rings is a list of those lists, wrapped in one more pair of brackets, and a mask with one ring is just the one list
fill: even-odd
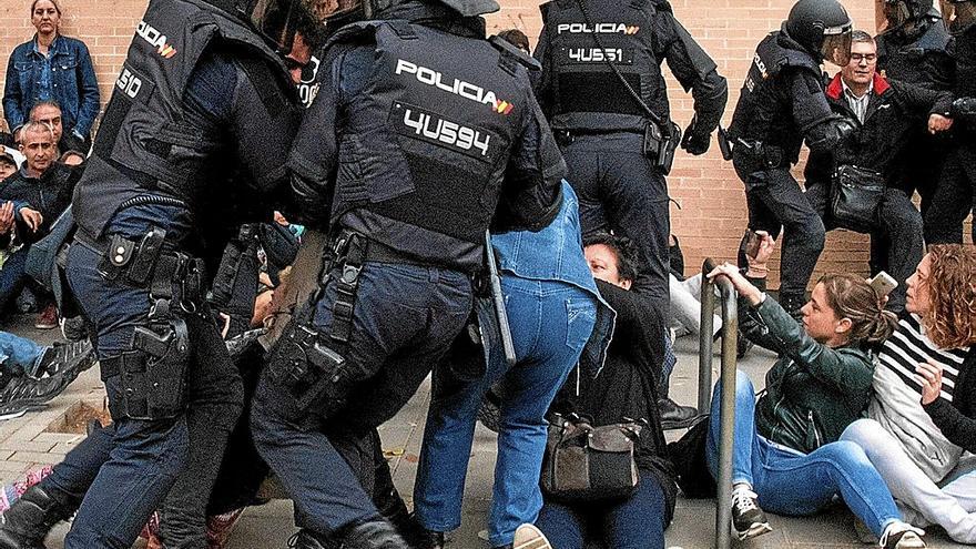
[[(563, 282), (597, 298), (597, 324), (583, 348), (583, 356), (587, 358), (580, 362), (593, 365), (596, 370), (591, 374), (598, 374), (603, 367), (617, 313), (600, 296), (583, 255), (579, 199), (569, 183), (562, 181), (562, 209), (549, 226), (538, 233), (514, 231), (495, 235), (491, 244), (501, 256), (498, 267), (502, 271), (502, 276)], [(490, 307), (490, 303), (488, 306)], [(484, 315), (479, 314), (479, 318), (484, 318)]]

